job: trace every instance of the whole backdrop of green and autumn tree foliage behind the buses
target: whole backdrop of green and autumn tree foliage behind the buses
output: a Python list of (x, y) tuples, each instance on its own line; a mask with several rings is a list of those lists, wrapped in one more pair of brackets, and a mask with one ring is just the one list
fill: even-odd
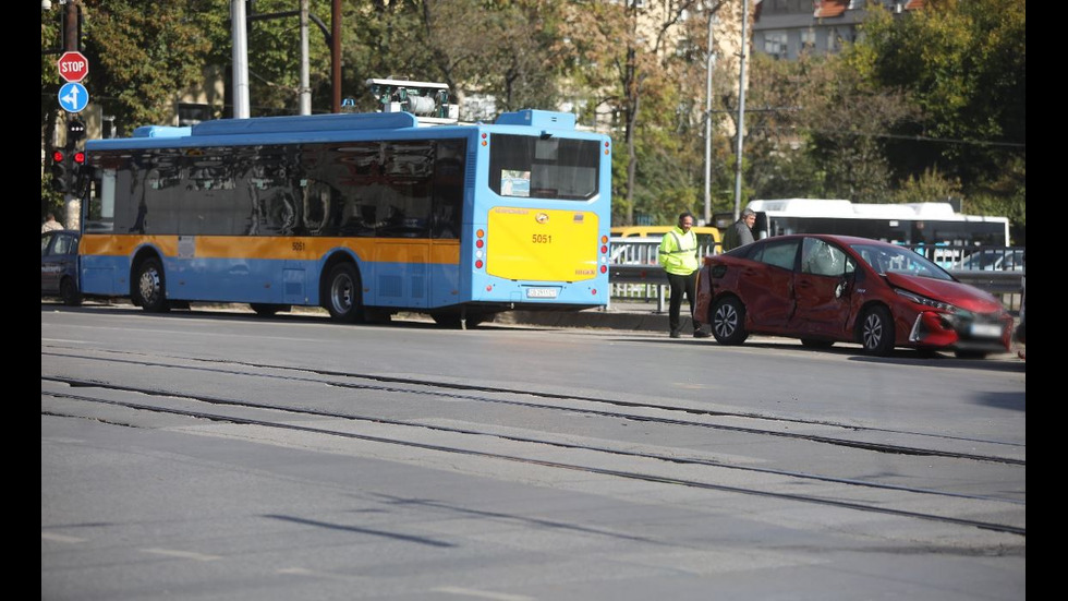
[[(86, 85), (123, 132), (162, 122), (206, 67), (231, 68), (228, 2), (82, 2)], [(482, 119), (521, 108), (572, 110), (581, 125), (610, 128), (616, 140), (614, 218), (671, 223), (681, 211), (696, 212), (702, 196), (707, 11), (728, 8), (735, 12), (725, 19), (737, 20), (738, 3), (344, 0), (342, 95), (374, 110), (366, 80), (396, 77), (491, 98)], [(251, 12), (298, 7), (255, 0)], [(312, 0), (311, 10), (329, 26), (330, 0)], [(58, 24), (43, 12), (43, 49), (59, 43)], [(298, 111), (298, 25), (284, 16), (250, 26), (253, 116)], [(968, 211), (1025, 224), (1025, 31), (1023, 0), (929, 0), (905, 15), (870, 9), (863, 35), (840, 55), (776, 61), (750, 53), (745, 194), (955, 195)], [(329, 111), (330, 53), (314, 25), (310, 49), (313, 111)], [(720, 59), (727, 68), (714, 70), (712, 194), (725, 209), (733, 196), (738, 97), (729, 63), (737, 57)], [(46, 149), (58, 82), (54, 57), (43, 55)]]

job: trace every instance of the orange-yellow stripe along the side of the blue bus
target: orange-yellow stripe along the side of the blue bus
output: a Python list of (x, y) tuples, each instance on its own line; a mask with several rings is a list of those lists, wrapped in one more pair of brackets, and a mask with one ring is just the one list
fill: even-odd
[[(361, 261), (410, 263), (423, 262), (423, 257), (429, 256), (430, 263), (460, 263), (459, 240), (196, 236), (193, 242), (193, 256), (189, 259), (318, 261), (332, 250), (349, 249)], [(179, 249), (184, 247), (179, 244), (178, 236), (86, 235), (82, 238), (81, 252), (125, 256), (143, 244), (155, 245), (165, 256), (179, 256)]]

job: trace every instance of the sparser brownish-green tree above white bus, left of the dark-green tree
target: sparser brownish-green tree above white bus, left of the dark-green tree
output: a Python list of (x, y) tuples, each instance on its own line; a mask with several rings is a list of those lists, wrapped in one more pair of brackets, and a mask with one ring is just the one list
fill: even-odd
[(851, 48), (792, 62), (753, 60), (747, 181), (757, 196), (891, 200), (885, 134), (915, 111), (901, 91), (865, 77), (870, 60)]

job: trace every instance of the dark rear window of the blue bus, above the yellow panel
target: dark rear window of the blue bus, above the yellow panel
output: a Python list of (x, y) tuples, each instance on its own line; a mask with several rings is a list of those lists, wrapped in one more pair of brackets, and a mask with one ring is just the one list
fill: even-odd
[(585, 201), (597, 195), (594, 140), (493, 134), (489, 188), (501, 196)]

